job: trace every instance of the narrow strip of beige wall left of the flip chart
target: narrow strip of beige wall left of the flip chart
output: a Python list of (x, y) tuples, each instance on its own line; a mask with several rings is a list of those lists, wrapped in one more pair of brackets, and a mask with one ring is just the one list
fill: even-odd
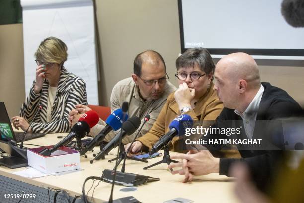
[(0, 25), (0, 101), (10, 117), (25, 99), (22, 24)]

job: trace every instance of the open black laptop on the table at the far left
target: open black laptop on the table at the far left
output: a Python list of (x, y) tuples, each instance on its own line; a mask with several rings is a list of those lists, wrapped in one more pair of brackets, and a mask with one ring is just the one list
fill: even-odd
[[(24, 141), (44, 136), (44, 133), (27, 132)], [(4, 102), (0, 102), (0, 140), (21, 142), (24, 132), (13, 131)]]

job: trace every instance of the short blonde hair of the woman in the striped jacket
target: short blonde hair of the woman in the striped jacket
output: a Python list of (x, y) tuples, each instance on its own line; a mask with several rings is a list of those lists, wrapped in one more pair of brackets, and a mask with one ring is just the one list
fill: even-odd
[(56, 37), (48, 37), (44, 39), (37, 51), (35, 57), (38, 61), (63, 64), (67, 58), (67, 45)]

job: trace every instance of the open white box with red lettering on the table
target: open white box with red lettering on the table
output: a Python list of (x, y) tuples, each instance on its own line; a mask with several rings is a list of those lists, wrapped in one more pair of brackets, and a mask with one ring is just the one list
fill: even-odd
[[(52, 146), (47, 146), (50, 149)], [(79, 152), (68, 147), (60, 147), (51, 156), (38, 154), (45, 147), (27, 150), (28, 165), (46, 174), (80, 169)]]

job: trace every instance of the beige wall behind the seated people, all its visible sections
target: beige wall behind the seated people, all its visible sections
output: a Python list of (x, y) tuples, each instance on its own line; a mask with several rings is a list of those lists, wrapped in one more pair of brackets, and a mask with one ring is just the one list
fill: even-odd
[[(177, 0), (96, 0), (96, 12), (100, 105), (108, 105), (114, 84), (132, 74), (134, 57), (146, 49), (163, 55), (170, 81), (177, 85), (174, 77), (175, 59), (180, 53)], [(0, 26), (0, 101), (5, 102), (11, 116), (18, 112), (25, 98), (22, 44), (21, 24)], [(260, 66), (262, 81), (285, 89), (304, 104), (304, 67), (293, 67), (286, 61), (284, 66), (278, 66), (278, 61), (275, 64)]]

